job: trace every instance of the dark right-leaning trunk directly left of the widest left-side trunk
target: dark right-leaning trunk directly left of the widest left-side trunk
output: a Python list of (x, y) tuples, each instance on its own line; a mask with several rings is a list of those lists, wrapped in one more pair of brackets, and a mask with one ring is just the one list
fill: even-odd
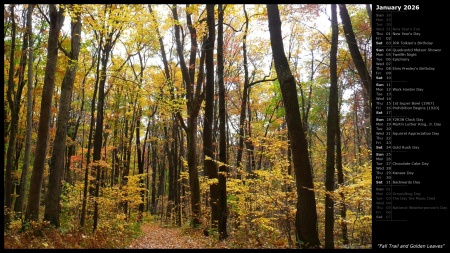
[(44, 87), (42, 89), (41, 114), (39, 117), (39, 129), (36, 143), (35, 160), (31, 174), (30, 194), (25, 214), (26, 220), (39, 220), (39, 206), (41, 200), (42, 179), (44, 165), (47, 157), (49, 140), (49, 128), (51, 120), (51, 106), (53, 89), (55, 87), (56, 65), (58, 62), (58, 35), (64, 23), (64, 9), (56, 9), (56, 5), (49, 6), (50, 30), (47, 46), (47, 63), (45, 66)]

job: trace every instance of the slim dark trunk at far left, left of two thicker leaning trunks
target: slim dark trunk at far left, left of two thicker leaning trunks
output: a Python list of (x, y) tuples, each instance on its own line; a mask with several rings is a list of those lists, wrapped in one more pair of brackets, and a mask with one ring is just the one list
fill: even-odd
[(31, 133), (33, 129), (33, 14), (34, 4), (28, 5), (27, 13), (27, 36), (28, 36), (28, 84), (27, 84), (27, 130), (25, 136), (25, 156), (22, 166), (22, 175), (20, 177), (20, 190), (19, 197), (17, 198), (18, 209), (16, 212), (20, 213), (20, 217), (23, 217), (23, 209), (25, 207), (25, 196), (28, 185), (28, 168), (30, 166), (30, 153), (31, 153)]

